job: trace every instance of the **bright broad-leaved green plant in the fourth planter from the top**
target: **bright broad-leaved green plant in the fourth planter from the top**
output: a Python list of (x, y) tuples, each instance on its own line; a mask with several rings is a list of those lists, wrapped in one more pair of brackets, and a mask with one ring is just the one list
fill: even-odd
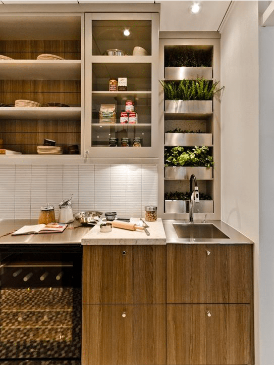
[(195, 146), (185, 152), (184, 147), (165, 148), (165, 166), (213, 166), (213, 157), (207, 146)]

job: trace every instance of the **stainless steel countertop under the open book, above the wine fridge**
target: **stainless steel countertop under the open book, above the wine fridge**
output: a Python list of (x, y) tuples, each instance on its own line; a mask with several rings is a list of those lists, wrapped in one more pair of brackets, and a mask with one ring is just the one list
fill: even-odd
[[(0, 219), (0, 236), (19, 230), (23, 225), (38, 224), (37, 219)], [(77, 228), (75, 228), (77, 227)], [(91, 226), (92, 227), (92, 226)], [(91, 227), (83, 227), (78, 222), (69, 223), (62, 233), (45, 233), (33, 235), (0, 237), (0, 245), (3, 244), (79, 244)]]

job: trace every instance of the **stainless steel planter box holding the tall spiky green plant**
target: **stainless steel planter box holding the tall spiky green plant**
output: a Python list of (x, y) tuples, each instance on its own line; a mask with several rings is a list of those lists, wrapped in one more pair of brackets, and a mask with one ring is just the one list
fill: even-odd
[(166, 100), (166, 113), (212, 113), (212, 100)]

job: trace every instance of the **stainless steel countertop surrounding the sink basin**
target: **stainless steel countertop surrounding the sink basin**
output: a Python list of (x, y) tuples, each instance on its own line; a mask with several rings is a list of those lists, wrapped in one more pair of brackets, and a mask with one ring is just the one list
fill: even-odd
[[(163, 228), (165, 229), (167, 236), (167, 243), (223, 243), (223, 244), (233, 244), (233, 243), (253, 243), (249, 238), (242, 235), (240, 232), (234, 230), (230, 225), (223, 222), (222, 220), (206, 220), (205, 223), (214, 224), (219, 230), (224, 232), (229, 238), (178, 238), (176, 231), (174, 229), (173, 223), (188, 223), (188, 220), (173, 220), (165, 219), (162, 220)], [(202, 223), (201, 220), (194, 220), (193, 223)]]

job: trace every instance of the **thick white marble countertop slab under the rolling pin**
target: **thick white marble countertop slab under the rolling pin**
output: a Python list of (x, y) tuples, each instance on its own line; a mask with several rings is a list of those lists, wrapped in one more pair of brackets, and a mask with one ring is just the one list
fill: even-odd
[[(138, 221), (138, 218), (131, 218), (131, 222)], [(111, 232), (101, 233), (100, 226), (90, 230), (83, 238), (82, 245), (165, 245), (166, 234), (163, 229), (162, 220), (146, 222), (150, 236), (143, 231), (129, 231), (113, 227)]]

